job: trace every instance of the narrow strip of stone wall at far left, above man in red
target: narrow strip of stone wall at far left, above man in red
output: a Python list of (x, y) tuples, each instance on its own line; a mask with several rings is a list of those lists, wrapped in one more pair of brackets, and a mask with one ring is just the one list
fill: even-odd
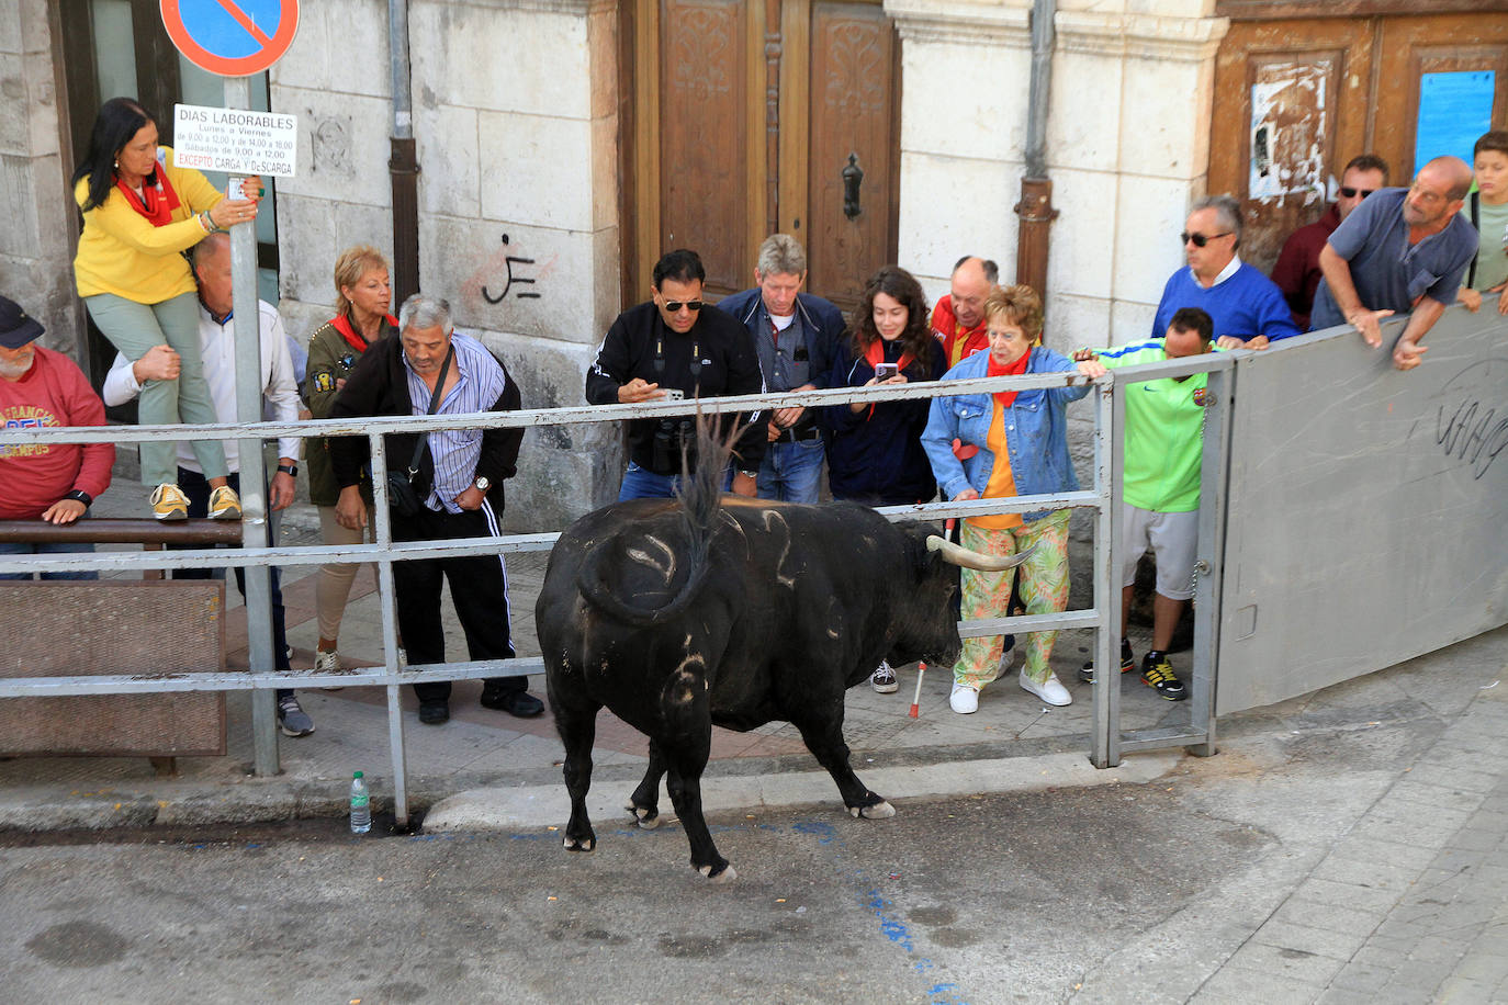
[(0, 5), (0, 292), (47, 325), (44, 345), (75, 354), (83, 306), (74, 289), (53, 6)]

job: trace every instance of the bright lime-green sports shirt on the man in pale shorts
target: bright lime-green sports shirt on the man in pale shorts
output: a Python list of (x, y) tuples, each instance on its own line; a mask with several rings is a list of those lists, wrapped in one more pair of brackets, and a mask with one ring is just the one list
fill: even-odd
[[(1108, 369), (1160, 363), (1163, 339), (1099, 351)], [(1205, 384), (1208, 374), (1164, 377), (1123, 384), (1126, 428), (1122, 435), (1122, 499), (1151, 512), (1199, 509), (1199, 476), (1205, 452)], [(1117, 389), (1122, 384), (1116, 386)]]

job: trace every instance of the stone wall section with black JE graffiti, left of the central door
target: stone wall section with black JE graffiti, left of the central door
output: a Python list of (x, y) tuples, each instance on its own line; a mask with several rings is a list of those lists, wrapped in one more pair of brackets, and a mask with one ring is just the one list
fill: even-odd
[[(271, 107), (300, 116), (303, 143), (277, 202), (293, 331), (330, 316), (342, 249), (392, 250), (388, 6), (330, 0), (303, 17), (271, 72)], [(615, 9), (416, 0), (409, 32), (421, 288), (498, 353), (526, 405), (582, 404), (618, 309)], [(556, 529), (614, 497), (618, 460), (609, 426), (531, 432), (507, 526)]]

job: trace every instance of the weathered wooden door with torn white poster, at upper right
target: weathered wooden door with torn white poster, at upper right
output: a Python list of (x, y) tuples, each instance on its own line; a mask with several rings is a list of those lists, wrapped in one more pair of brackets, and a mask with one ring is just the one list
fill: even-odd
[[(1491, 71), (1490, 121), (1503, 128), (1508, 0), (1437, 6), (1446, 11), (1347, 0), (1353, 17), (1341, 18), (1312, 17), (1335, 11), (1326, 5), (1221, 0), (1232, 24), (1215, 60), (1208, 190), (1241, 199), (1241, 258), (1270, 270), (1283, 240), (1324, 212), (1330, 179), (1357, 154), (1380, 155), (1387, 182), (1407, 185), (1427, 74)], [(1469, 158), (1470, 143), (1460, 152)]]

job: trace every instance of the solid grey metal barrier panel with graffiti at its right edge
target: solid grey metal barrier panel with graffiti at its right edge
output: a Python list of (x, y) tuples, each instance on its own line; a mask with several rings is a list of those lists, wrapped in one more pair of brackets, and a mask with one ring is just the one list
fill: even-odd
[(1220, 714), (1508, 621), (1508, 322), (1494, 307), (1448, 310), (1405, 374), (1341, 328), (1237, 363)]

